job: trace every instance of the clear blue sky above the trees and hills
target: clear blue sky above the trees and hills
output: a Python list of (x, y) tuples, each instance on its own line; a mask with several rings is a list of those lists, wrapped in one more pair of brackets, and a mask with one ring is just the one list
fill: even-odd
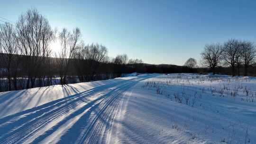
[(200, 61), (205, 44), (256, 42), (256, 0), (0, 0), (0, 17), (16, 22), (29, 8), (58, 30), (80, 27), (84, 42), (105, 45), (110, 57), (145, 63), (183, 65)]

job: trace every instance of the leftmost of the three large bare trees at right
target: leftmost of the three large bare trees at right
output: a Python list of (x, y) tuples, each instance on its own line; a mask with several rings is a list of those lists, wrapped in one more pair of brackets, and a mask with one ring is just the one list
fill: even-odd
[(215, 74), (215, 68), (222, 61), (222, 53), (223, 46), (220, 44), (205, 45), (201, 53), (202, 65), (210, 67), (213, 74)]

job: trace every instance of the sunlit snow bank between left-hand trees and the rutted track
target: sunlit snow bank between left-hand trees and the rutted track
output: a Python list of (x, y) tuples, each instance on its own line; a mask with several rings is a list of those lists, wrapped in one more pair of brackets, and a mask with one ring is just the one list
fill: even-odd
[(0, 92), (0, 118), (43, 105), (56, 99), (62, 99), (69, 95), (90, 90), (98, 86), (130, 80), (133, 78), (135, 77), (124, 77), (105, 81), (81, 82), (75, 84), (66, 84), (63, 86), (53, 85), (27, 90)]

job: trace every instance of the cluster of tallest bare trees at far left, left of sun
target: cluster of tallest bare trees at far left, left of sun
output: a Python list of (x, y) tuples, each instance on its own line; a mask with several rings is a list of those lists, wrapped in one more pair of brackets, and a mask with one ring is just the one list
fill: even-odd
[(55, 34), (48, 20), (36, 9), (21, 14), (16, 24), (0, 25), (1, 73), (7, 75), (8, 90), (12, 90), (12, 80), (14, 89), (18, 90), (19, 76), (26, 75), (26, 88), (33, 88), (37, 78), (42, 80), (49, 75), (50, 44)]

